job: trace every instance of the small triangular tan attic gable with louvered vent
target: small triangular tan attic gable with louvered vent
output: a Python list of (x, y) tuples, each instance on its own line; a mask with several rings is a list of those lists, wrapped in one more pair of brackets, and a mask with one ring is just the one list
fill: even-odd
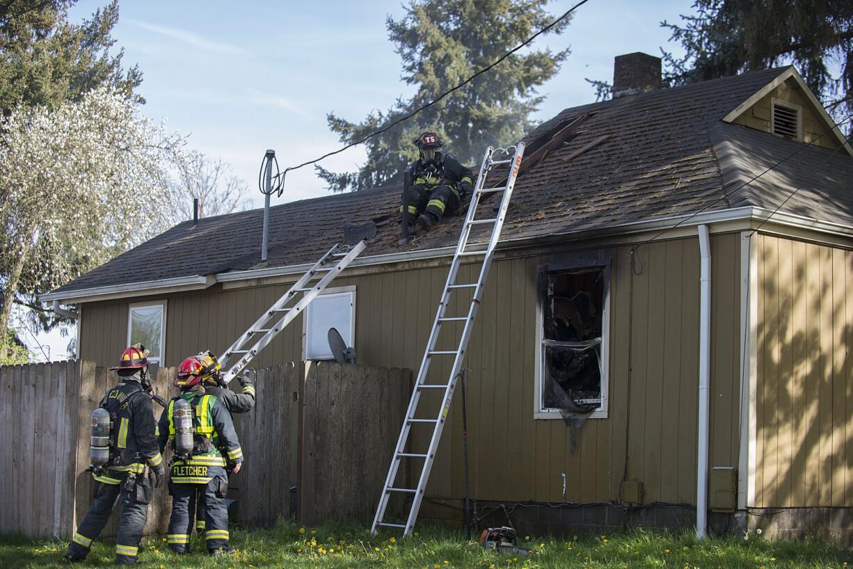
[[(722, 120), (830, 150), (844, 143), (844, 135), (833, 128), (835, 121), (793, 67), (787, 67)], [(833, 133), (824, 135), (830, 128)], [(850, 143), (844, 147), (853, 156)]]

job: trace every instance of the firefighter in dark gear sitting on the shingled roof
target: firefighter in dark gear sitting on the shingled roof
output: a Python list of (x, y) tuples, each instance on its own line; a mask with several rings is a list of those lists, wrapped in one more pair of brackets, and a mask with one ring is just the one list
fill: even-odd
[(471, 197), (473, 189), (471, 171), (441, 151), (443, 142), (436, 133), (423, 133), (415, 139), (415, 145), (421, 158), (409, 168), (411, 185), (403, 188), (400, 206), (404, 236), (411, 235), (412, 224), (428, 231), (445, 214), (456, 212)]

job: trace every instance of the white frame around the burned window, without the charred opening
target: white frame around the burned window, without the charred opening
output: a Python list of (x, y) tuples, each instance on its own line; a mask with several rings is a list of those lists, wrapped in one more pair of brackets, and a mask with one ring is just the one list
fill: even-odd
[(610, 293), (612, 288), (612, 259), (601, 256), (582, 256), (557, 263), (543, 264), (537, 270), (537, 306), (536, 306), (536, 373), (533, 393), (534, 419), (560, 419), (560, 409), (544, 407), (543, 373), (545, 366), (544, 351), (544, 303), (547, 299), (547, 285), (544, 279), (548, 273), (563, 270), (597, 269), (604, 270), (604, 291), (601, 302), (601, 406), (589, 414), (589, 419), (606, 419), (610, 403)]

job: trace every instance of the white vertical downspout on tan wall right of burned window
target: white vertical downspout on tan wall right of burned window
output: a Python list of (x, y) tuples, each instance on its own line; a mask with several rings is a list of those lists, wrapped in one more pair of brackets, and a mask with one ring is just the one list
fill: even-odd
[(711, 240), (708, 226), (699, 225), (699, 441), (696, 466), (696, 537), (708, 527), (708, 424), (711, 408)]

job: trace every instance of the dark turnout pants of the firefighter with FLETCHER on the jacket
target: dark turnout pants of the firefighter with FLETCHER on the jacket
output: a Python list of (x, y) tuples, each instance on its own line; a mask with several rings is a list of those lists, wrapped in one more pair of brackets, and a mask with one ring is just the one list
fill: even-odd
[(228, 475), (223, 467), (209, 467), (212, 479), (207, 484), (170, 483), (171, 518), (166, 541), (169, 548), (184, 553), (189, 545), (189, 536), (193, 531), (194, 508), (190, 503), (197, 500), (204, 512), (204, 536), (208, 551), (229, 549), (228, 545), (228, 509), (225, 507), (225, 495), (228, 493)]

